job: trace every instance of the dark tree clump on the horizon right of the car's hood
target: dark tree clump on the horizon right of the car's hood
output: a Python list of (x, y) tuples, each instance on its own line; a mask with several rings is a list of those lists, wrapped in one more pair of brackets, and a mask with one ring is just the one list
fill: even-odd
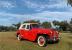
[(69, 31), (70, 24), (67, 21), (53, 21), (54, 25), (59, 26), (60, 31)]

